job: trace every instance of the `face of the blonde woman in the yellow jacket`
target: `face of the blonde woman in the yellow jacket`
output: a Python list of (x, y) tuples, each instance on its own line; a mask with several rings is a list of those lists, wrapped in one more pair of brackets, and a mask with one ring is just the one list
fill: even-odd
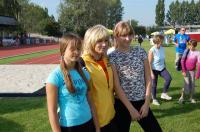
[(98, 55), (103, 55), (107, 52), (108, 49), (108, 39), (99, 40), (96, 42), (94, 50)]

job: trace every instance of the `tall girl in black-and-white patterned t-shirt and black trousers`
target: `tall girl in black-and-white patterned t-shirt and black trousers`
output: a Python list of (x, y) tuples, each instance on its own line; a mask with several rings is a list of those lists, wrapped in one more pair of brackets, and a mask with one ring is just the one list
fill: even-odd
[[(130, 45), (134, 30), (128, 22), (120, 21), (114, 27), (117, 49), (109, 54), (110, 63), (119, 76), (121, 88), (136, 109), (137, 121), (144, 131), (161, 132), (162, 129), (149, 105), (151, 100), (151, 76), (147, 54), (140, 46)], [(124, 104), (115, 98), (116, 123), (119, 132), (129, 132), (131, 116)]]

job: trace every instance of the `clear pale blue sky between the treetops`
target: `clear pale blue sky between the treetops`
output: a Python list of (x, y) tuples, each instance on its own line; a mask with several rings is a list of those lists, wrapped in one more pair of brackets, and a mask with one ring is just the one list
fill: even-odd
[[(58, 18), (58, 5), (61, 0), (30, 0), (42, 7), (47, 7), (49, 15)], [(168, 11), (170, 3), (176, 0), (165, 0), (165, 13)], [(179, 0), (182, 2), (183, 0)], [(188, 0), (191, 1), (191, 0)], [(197, 0), (196, 0), (197, 1)], [(139, 25), (155, 25), (155, 9), (157, 0), (121, 0), (124, 7), (123, 20), (134, 19)]]

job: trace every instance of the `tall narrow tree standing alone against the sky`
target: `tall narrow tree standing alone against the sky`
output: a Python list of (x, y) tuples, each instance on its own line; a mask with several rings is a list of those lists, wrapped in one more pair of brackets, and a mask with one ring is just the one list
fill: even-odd
[(158, 26), (164, 25), (164, 20), (165, 20), (165, 1), (164, 0), (158, 0), (158, 3), (156, 5), (155, 20)]

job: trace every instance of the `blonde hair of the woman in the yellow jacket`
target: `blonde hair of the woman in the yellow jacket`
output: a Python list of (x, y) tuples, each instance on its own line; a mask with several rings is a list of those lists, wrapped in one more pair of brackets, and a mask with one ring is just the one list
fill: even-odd
[(98, 41), (109, 40), (108, 29), (103, 25), (95, 25), (89, 28), (84, 36), (84, 54), (94, 55), (95, 54), (95, 45)]

